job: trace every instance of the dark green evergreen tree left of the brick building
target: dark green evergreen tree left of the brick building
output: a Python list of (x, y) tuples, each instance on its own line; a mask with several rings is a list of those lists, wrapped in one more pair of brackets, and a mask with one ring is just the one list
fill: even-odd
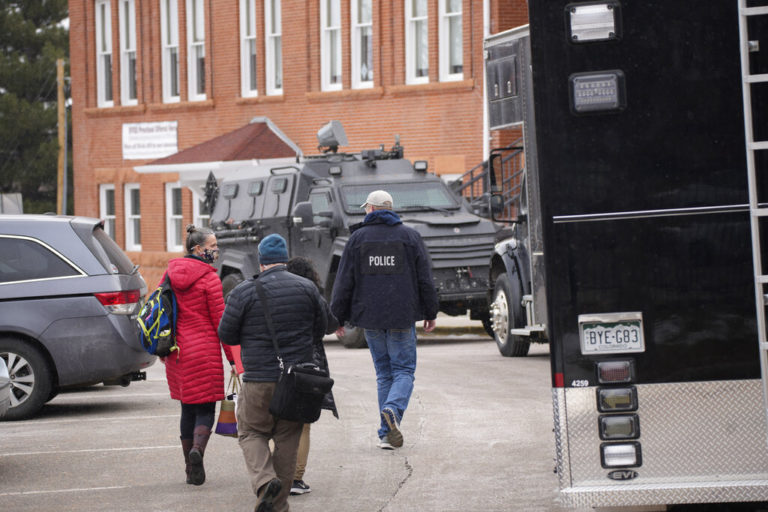
[(21, 192), (24, 213), (56, 211), (56, 59), (69, 54), (67, 16), (67, 0), (0, 0), (0, 193)]

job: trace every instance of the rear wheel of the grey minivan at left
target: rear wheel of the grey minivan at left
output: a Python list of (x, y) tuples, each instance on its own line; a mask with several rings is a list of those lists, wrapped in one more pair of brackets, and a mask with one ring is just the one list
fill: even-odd
[(23, 420), (37, 414), (51, 394), (51, 370), (40, 351), (16, 338), (0, 338), (0, 357), (11, 376), (11, 408), (6, 420)]

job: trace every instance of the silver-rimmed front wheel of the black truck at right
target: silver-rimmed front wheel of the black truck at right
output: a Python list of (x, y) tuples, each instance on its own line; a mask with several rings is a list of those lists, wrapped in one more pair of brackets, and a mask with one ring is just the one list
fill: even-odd
[(515, 293), (510, 288), (507, 274), (499, 275), (493, 289), (493, 303), (491, 304), (493, 337), (501, 355), (523, 357), (528, 355), (531, 342), (524, 336), (512, 335), (509, 332), (512, 328), (524, 327), (520, 293)]

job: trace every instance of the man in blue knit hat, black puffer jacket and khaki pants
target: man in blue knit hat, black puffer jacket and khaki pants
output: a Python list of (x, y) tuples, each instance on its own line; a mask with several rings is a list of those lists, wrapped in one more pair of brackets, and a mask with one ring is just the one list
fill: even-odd
[[(240, 345), (245, 372), (237, 402), (237, 429), (251, 486), (258, 497), (257, 512), (288, 510), (303, 425), (275, 418), (269, 412), (280, 368), (256, 279), (264, 287), (285, 364), (312, 361), (313, 340), (325, 335), (328, 321), (317, 286), (288, 272), (287, 261), (285, 239), (278, 234), (265, 237), (259, 243), (261, 273), (232, 290), (219, 324), (221, 341)], [(270, 439), (275, 443), (274, 454), (269, 450)]]

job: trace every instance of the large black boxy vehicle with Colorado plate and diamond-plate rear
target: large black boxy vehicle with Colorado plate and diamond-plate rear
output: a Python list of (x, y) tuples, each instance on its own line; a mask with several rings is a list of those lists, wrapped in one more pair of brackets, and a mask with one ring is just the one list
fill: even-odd
[(766, 501), (768, 2), (528, 4), (486, 49), (530, 51), (497, 126), (524, 121), (564, 500)]

